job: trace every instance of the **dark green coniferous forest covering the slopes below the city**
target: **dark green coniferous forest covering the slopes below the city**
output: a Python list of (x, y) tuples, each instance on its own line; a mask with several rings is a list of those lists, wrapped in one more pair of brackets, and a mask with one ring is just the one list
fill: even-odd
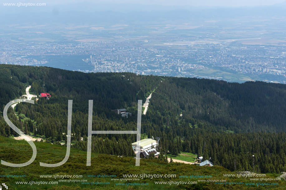
[[(18, 134), (3, 119), (5, 105), (25, 94), (47, 92), (35, 104), (19, 103), (8, 117), (22, 132), (66, 141), (68, 100), (73, 100), (71, 141), (86, 151), (88, 100), (92, 130), (136, 130), (137, 100), (152, 93), (142, 115), (142, 137), (160, 137), (160, 152), (190, 152), (231, 171), (286, 171), (286, 85), (142, 76), (133, 73), (82, 73), (50, 67), (0, 65), (0, 135)], [(111, 111), (127, 109), (131, 117)], [(16, 113), (16, 115), (15, 115)], [(136, 135), (92, 135), (92, 151), (134, 156)], [(162, 157), (159, 159), (163, 159)]]

